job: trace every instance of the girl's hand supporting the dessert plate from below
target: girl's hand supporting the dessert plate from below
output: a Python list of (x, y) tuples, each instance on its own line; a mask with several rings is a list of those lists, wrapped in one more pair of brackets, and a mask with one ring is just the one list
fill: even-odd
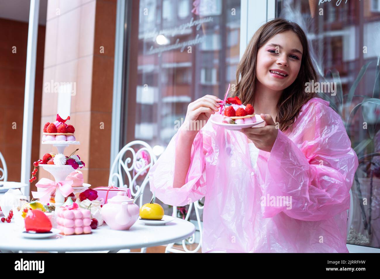
[(275, 123), (270, 114), (260, 114), (265, 120), (265, 126), (259, 128), (245, 128), (241, 132), (247, 136), (255, 146), (263, 151), (271, 152), (279, 130), (275, 128)]

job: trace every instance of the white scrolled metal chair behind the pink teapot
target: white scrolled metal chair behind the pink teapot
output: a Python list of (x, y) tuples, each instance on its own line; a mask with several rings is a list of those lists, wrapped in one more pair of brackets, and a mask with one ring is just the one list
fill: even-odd
[[(139, 147), (138, 151), (135, 151), (135, 148), (133, 147)], [(128, 152), (129, 151), (129, 152)], [(150, 156), (150, 162), (146, 162), (144, 160), (138, 160), (138, 157), (140, 157), (140, 154), (146, 151)], [(130, 153), (130, 155), (127, 155), (126, 153)], [(134, 140), (127, 145), (125, 145), (122, 150), (119, 151), (117, 154), (114, 162), (112, 163), (109, 179), (108, 179), (108, 185), (109, 186), (115, 186), (115, 187), (121, 187), (121, 188), (129, 188), (131, 190), (132, 197), (138, 196), (140, 193), (139, 199), (139, 207), (141, 208), (142, 201), (143, 201), (143, 193), (144, 189), (149, 181), (149, 176), (147, 169), (152, 167), (154, 163), (157, 161), (157, 157), (153, 153), (152, 147), (146, 142), (143, 142), (141, 140)], [(146, 164), (147, 163), (147, 164)], [(128, 164), (131, 164), (130, 167), (128, 167)], [(137, 171), (136, 171), (137, 170)], [(144, 173), (145, 172), (145, 173)], [(141, 185), (138, 185), (136, 183), (137, 178), (140, 177), (140, 175), (145, 175), (144, 180), (142, 181)], [(124, 181), (124, 178), (127, 177), (128, 181)], [(125, 183), (127, 182), (127, 183)], [(130, 249), (127, 249), (126, 251), (130, 251)], [(146, 248), (141, 248), (141, 252), (146, 252)]]

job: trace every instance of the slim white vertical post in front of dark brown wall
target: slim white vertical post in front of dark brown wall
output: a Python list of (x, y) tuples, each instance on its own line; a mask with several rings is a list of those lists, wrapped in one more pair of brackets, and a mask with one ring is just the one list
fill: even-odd
[[(28, 45), (26, 55), (25, 71), (25, 97), (24, 97), (24, 120), (22, 126), (22, 154), (21, 154), (21, 182), (27, 183), (23, 188), (24, 195), (29, 195), (32, 176), (30, 172), (30, 161), (32, 154), (32, 128), (33, 128), (33, 106), (34, 106), (34, 84), (36, 77), (36, 52), (38, 34), (38, 13), (40, 0), (30, 0)], [(38, 120), (40, 121), (40, 120)], [(36, 135), (40, 136), (40, 135)]]

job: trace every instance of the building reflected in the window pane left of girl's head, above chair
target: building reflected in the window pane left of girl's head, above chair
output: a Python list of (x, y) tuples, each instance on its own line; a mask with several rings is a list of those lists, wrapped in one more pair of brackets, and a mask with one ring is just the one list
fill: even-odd
[[(199, 15), (191, 12), (193, 2), (139, 2), (134, 135), (135, 139), (146, 140), (152, 146), (165, 146), (169, 142), (176, 133), (175, 121), (185, 117), (190, 102), (206, 94), (224, 96), (225, 83), (227, 86), (233, 83), (236, 76), (241, 0), (202, 0)], [(147, 8), (148, 15), (144, 16), (144, 8)], [(233, 8), (234, 15), (231, 14)], [(211, 17), (212, 21), (204, 23), (198, 30), (197, 25), (185, 30), (180, 28), (182, 24), (206, 17)], [(160, 34), (170, 43), (159, 45), (157, 36)], [(204, 41), (192, 46), (191, 53), (185, 47), (183, 52), (168, 49), (160, 57), (149, 54), (152, 46), (169, 47), (177, 39), (181, 43), (193, 40), (196, 35), (204, 36)], [(148, 85), (147, 90), (144, 90), (145, 84)], [(149, 113), (146, 113), (148, 110)]]

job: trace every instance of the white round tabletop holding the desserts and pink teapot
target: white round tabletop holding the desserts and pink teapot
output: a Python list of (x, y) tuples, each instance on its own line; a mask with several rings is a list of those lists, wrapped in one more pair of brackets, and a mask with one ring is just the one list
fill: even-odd
[(21, 236), (22, 229), (0, 221), (0, 251), (109, 251), (159, 246), (184, 240), (195, 232), (195, 226), (180, 218), (160, 226), (145, 225), (137, 220), (129, 230), (111, 230), (105, 223), (91, 234), (56, 235), (43, 239)]

